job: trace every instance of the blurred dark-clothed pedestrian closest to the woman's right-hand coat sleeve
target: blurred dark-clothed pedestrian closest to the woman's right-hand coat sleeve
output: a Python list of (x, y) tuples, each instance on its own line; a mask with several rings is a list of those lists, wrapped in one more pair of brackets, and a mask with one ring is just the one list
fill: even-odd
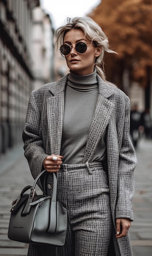
[(137, 104), (135, 104), (130, 111), (130, 136), (132, 143), (137, 148), (140, 138), (139, 127), (141, 126), (141, 112), (138, 110)]

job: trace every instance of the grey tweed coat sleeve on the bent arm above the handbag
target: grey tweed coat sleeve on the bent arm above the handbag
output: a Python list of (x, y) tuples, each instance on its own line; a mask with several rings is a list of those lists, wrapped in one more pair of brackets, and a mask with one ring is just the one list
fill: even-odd
[[(39, 132), (40, 120), (40, 107), (35, 100), (33, 91), (29, 100), (22, 138), (24, 141), (24, 155), (28, 160), (34, 179), (44, 169), (43, 161), (47, 157), (44, 150), (42, 137)], [(40, 185), (40, 182), (38, 182), (38, 184)]]

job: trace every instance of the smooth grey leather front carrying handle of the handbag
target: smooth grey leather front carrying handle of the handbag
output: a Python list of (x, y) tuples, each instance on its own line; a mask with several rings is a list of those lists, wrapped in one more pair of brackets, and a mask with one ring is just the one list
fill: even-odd
[[(35, 193), (35, 186), (37, 184), (37, 181), (39, 180), (39, 178), (44, 175), (44, 173), (46, 172), (46, 170), (42, 171), (35, 179), (33, 186), (31, 186), (31, 192), (29, 195), (29, 199), (26, 203), (26, 206), (24, 208), (23, 214), (28, 214), (31, 210), (31, 202), (33, 201), (34, 198), (34, 193)], [(57, 221), (57, 217), (56, 217), (56, 203), (57, 203), (57, 177), (55, 175), (55, 173), (53, 173), (53, 193), (52, 193), (52, 198), (51, 198), (51, 207), (50, 207), (50, 224), (48, 227), (48, 233), (54, 233), (55, 229), (56, 229), (56, 221)]]

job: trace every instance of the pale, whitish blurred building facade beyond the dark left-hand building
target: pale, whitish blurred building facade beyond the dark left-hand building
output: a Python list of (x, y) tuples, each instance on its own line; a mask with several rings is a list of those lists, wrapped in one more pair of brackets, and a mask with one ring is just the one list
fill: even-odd
[(54, 81), (54, 29), (51, 19), (42, 8), (33, 9), (33, 88)]

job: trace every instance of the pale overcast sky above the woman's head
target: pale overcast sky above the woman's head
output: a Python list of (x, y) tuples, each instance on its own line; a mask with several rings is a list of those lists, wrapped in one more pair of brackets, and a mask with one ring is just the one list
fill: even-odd
[(53, 27), (63, 25), (66, 17), (86, 16), (101, 0), (40, 0), (42, 8), (51, 16)]

